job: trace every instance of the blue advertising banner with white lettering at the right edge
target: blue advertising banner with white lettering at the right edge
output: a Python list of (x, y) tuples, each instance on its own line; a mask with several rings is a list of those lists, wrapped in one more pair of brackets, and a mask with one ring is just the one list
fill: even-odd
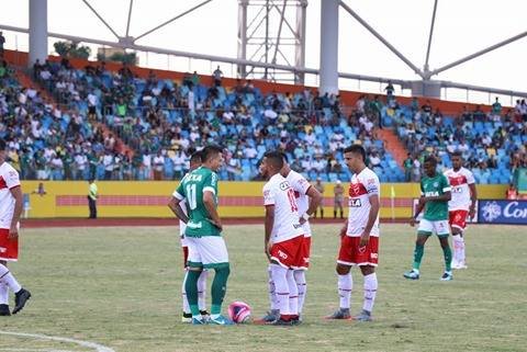
[(527, 201), (480, 200), (480, 224), (527, 225)]

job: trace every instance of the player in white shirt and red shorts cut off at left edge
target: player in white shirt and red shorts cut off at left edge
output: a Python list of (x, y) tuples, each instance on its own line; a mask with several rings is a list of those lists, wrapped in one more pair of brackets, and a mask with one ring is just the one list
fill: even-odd
[(19, 259), (19, 220), (22, 190), (19, 172), (5, 162), (5, 140), (0, 139), (0, 316), (9, 316), (9, 291), (14, 293), (13, 314), (19, 313), (31, 293), (22, 288), (8, 269), (8, 261)]

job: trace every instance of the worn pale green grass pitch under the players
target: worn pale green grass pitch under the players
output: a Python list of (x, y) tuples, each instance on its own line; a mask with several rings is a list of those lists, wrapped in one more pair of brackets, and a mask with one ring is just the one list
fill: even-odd
[[(304, 323), (193, 327), (180, 322), (181, 249), (176, 227), (42, 228), (22, 232), (11, 269), (33, 298), (0, 331), (92, 341), (115, 351), (527, 351), (527, 227), (472, 226), (468, 270), (440, 282), (442, 254), (430, 238), (416, 282), (415, 229), (383, 225), (374, 321), (325, 321), (338, 306), (339, 225), (313, 226)], [(268, 308), (261, 225), (226, 226), (232, 262), (226, 305)], [(352, 269), (351, 310), (362, 305)], [(209, 286), (212, 280), (209, 280)], [(209, 294), (210, 296), (210, 294)], [(2, 351), (94, 351), (69, 342), (0, 333)]]

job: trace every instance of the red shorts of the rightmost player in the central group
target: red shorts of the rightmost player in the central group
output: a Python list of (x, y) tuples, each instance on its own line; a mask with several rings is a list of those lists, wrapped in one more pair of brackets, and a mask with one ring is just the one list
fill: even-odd
[(379, 262), (379, 237), (370, 236), (366, 248), (359, 249), (360, 236), (343, 236), (337, 263), (345, 265), (372, 265)]

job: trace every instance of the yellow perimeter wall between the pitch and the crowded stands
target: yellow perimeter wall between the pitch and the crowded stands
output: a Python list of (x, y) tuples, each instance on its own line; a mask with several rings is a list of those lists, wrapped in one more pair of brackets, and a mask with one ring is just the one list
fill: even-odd
[[(29, 201), (24, 216), (29, 218), (88, 217), (88, 182), (43, 181), (45, 194), (38, 194), (40, 181), (23, 181), (22, 192)], [(173, 217), (167, 203), (178, 182), (170, 181), (99, 181), (99, 217)], [(220, 182), (220, 215), (223, 217), (261, 217), (262, 182)], [(419, 196), (417, 183), (381, 185), (381, 217), (391, 218), (391, 189), (395, 198), (393, 215), (412, 215), (412, 200)], [(504, 198), (506, 185), (478, 185), (481, 198)], [(333, 217), (333, 184), (325, 185), (325, 217)], [(345, 207), (345, 214), (346, 207)]]

